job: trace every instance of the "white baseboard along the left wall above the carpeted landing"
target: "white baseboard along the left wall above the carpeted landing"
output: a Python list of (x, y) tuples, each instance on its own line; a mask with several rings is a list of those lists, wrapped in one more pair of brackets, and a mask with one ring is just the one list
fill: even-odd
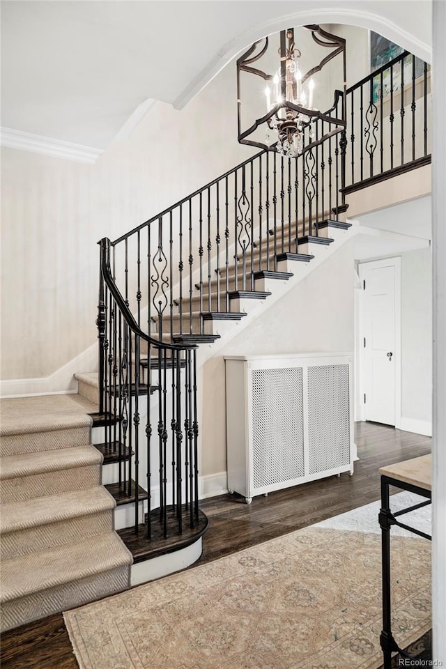
[(77, 392), (74, 374), (97, 371), (98, 344), (82, 351), (49, 376), (40, 378), (8, 378), (0, 381), (0, 397), (31, 397), (32, 395), (70, 394)]

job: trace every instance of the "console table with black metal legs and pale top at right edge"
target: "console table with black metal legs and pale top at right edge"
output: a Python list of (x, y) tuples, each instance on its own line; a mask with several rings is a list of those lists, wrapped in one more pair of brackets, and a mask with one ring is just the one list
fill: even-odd
[[(415, 535), (431, 539), (430, 535), (420, 532), (415, 528), (397, 521), (397, 516), (403, 516), (415, 509), (420, 509), (431, 504), (431, 456), (424, 455), (420, 458), (413, 458), (387, 467), (381, 467), (381, 509), (379, 512), (379, 524), (381, 528), (381, 550), (382, 550), (382, 568), (383, 568), (383, 631), (380, 634), (380, 645), (383, 649), (384, 669), (390, 669), (392, 662), (392, 652), (399, 652), (403, 657), (410, 658), (404, 652), (392, 635), (392, 619), (390, 610), (390, 528), (392, 525), (398, 525), (400, 528), (409, 530)], [(401, 490), (408, 490), (417, 495), (426, 498), (425, 502), (415, 504), (407, 509), (392, 513), (389, 501), (389, 486), (395, 486)]]

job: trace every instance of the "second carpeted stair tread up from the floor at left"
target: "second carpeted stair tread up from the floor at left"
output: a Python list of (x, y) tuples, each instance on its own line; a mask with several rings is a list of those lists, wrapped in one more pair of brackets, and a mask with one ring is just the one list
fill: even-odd
[(1, 507), (0, 533), (17, 532), (69, 518), (114, 509), (115, 500), (104, 487), (47, 495), (30, 502), (8, 502)]

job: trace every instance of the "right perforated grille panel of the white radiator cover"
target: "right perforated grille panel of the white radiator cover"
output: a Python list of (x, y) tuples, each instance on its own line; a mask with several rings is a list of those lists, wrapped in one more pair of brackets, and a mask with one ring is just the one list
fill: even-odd
[(350, 463), (348, 364), (308, 368), (309, 473)]

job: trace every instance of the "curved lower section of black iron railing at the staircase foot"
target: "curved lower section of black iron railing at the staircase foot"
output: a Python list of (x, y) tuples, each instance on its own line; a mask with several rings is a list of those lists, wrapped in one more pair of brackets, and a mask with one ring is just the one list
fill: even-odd
[(194, 528), (199, 517), (197, 346), (162, 343), (142, 332), (116, 287), (109, 257), (105, 238), (98, 313), (105, 446), (117, 456), (121, 495), (134, 505), (134, 532), (151, 539), (157, 509), (167, 538), (182, 534), (186, 523)]

